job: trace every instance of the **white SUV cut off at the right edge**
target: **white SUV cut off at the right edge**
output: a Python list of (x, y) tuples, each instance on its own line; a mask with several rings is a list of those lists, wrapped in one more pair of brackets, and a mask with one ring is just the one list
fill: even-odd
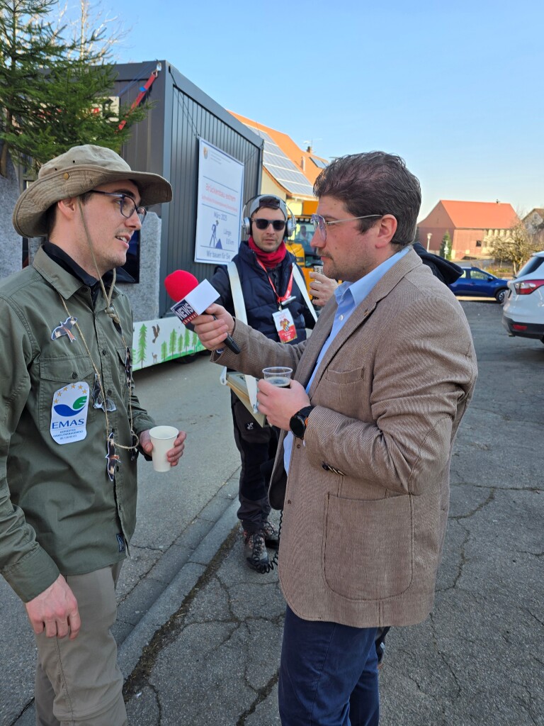
[(535, 252), (516, 279), (508, 282), (503, 325), (508, 335), (544, 343), (544, 251)]

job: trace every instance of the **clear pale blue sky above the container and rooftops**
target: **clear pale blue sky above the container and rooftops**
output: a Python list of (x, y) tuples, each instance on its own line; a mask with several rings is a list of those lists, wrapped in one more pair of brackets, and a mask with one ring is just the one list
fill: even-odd
[[(68, 5), (77, 6), (76, 0)], [(542, 2), (94, 4), (117, 62), (167, 60), (319, 156), (384, 150), (440, 199), (544, 207)]]

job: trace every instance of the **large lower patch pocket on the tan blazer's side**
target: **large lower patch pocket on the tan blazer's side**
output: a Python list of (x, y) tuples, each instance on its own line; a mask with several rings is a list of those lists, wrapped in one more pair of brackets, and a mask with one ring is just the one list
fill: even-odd
[(383, 600), (407, 590), (413, 571), (411, 497), (326, 495), (323, 577), (348, 600)]

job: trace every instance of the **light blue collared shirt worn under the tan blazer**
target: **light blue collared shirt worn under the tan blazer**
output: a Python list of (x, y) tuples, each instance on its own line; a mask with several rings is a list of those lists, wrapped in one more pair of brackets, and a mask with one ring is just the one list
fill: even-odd
[[(316, 375), (316, 370), (318, 370), (319, 364), (323, 360), (323, 356), (326, 354), (326, 351), (334, 338), (338, 335), (339, 331), (342, 330), (342, 327), (345, 325), (347, 319), (353, 313), (355, 308), (363, 302), (376, 283), (382, 279), (384, 274), (390, 270), (393, 265), (397, 264), (400, 258), (404, 257), (409, 250), (411, 250), (411, 245), (407, 245), (400, 250), (400, 252), (396, 252), (394, 255), (387, 258), (387, 260), (374, 268), (372, 272), (369, 272), (364, 277), (361, 277), (360, 280), (357, 280), (357, 282), (342, 282), (342, 285), (339, 285), (337, 289), (334, 290), (334, 297), (337, 298), (337, 311), (334, 315), (334, 322), (332, 324), (331, 332), (329, 333), (329, 338), (327, 338), (323, 343), (323, 348), (321, 348), (321, 352), (316, 360), (316, 365), (313, 369), (312, 375), (310, 376), (310, 380), (308, 381), (308, 386), (306, 386), (306, 393), (310, 391), (313, 377)], [(289, 471), (293, 438), (293, 434), (289, 431), (284, 439), (284, 467), (286, 471)]]

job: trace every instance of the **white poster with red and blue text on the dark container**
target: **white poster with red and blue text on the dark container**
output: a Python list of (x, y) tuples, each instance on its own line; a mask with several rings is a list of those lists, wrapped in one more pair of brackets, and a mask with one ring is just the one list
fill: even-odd
[(199, 139), (195, 262), (227, 264), (238, 252), (243, 189), (244, 165)]

